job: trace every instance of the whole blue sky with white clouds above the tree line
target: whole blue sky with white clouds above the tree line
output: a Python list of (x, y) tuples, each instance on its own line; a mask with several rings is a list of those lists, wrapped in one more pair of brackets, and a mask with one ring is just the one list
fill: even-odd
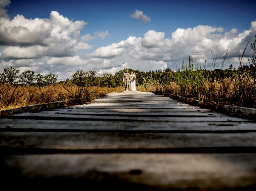
[[(211, 65), (210, 51), (221, 59), (229, 43), (227, 65), (237, 65), (238, 55), (256, 34), (256, 1), (11, 0), (10, 3), (2, 0), (1, 3), (0, 8), (5, 11), (1, 17), (8, 20), (0, 22), (1, 35), (6, 37), (0, 39), (0, 70), (14, 66), (21, 71), (55, 72), (62, 76), (60, 79), (69, 78), (78, 69), (112, 73), (125, 67), (175, 70), (189, 54), (198, 63), (207, 57)], [(140, 18), (133, 15), (136, 10)], [(23, 17), (16, 17), (17, 14)], [(53, 18), (66, 24), (54, 23)], [(70, 31), (69, 26), (76, 21), (79, 26)], [(17, 28), (19, 31), (15, 33)], [(134, 38), (128, 39), (130, 36)], [(250, 50), (246, 54), (249, 57)]]

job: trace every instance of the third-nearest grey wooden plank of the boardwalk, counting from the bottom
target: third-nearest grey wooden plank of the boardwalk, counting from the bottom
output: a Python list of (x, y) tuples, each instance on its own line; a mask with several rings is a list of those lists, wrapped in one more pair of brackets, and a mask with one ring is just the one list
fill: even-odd
[[(67, 121), (38, 119), (0, 119), (1, 129), (73, 129), (76, 130), (126, 130), (126, 131), (223, 131), (223, 130), (255, 130), (256, 123), (226, 121)], [(18, 131), (18, 130), (17, 130)]]

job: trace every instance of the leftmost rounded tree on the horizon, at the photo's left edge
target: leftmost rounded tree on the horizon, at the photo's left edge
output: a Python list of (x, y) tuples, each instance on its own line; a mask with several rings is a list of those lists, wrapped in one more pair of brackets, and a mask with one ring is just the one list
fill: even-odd
[(4, 68), (4, 70), (0, 74), (0, 81), (3, 84), (8, 84), (8, 83), (13, 84), (14, 80), (18, 78), (19, 72), (20, 70), (14, 67)]

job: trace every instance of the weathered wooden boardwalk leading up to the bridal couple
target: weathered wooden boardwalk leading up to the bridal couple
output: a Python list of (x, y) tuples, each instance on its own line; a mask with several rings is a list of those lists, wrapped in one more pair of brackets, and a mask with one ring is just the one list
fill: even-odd
[(0, 130), (9, 187), (256, 190), (255, 122), (149, 92), (6, 116)]

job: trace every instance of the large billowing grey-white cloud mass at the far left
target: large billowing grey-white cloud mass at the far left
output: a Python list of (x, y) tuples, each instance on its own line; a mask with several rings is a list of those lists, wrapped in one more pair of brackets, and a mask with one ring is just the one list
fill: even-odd
[(57, 11), (49, 19), (0, 18), (1, 59), (29, 59), (40, 57), (75, 56), (78, 50), (92, 46), (78, 41), (80, 30), (87, 25), (83, 20), (72, 21)]

